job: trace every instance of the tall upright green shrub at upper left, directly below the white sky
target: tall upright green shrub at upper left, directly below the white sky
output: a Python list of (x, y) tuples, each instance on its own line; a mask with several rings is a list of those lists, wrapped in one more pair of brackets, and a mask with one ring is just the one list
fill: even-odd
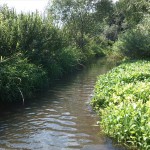
[(0, 7), (0, 56), (22, 53), (32, 63), (47, 65), (65, 46), (60, 30), (38, 12), (17, 14)]

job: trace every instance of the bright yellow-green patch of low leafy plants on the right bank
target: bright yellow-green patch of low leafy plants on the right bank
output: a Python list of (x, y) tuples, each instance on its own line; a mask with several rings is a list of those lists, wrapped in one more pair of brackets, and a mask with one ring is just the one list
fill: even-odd
[(92, 106), (103, 131), (129, 149), (150, 148), (150, 62), (125, 62), (99, 76)]

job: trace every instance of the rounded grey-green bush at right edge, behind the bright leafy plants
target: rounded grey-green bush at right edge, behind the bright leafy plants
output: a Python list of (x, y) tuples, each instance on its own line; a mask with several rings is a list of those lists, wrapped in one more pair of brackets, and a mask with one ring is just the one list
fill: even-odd
[(119, 44), (113, 50), (119, 49), (123, 55), (131, 58), (150, 58), (150, 16), (136, 26), (126, 31), (118, 39)]

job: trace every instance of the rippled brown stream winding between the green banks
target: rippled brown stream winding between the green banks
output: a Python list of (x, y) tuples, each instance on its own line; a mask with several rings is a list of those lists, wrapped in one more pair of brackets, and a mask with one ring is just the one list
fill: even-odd
[(30, 104), (1, 113), (0, 150), (123, 150), (100, 132), (89, 106), (96, 77), (112, 67), (97, 60)]

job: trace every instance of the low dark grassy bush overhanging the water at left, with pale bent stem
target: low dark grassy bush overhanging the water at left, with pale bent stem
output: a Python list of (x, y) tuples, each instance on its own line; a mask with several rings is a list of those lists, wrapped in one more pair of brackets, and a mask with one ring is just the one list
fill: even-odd
[(0, 63), (0, 102), (14, 102), (31, 98), (47, 86), (47, 74), (27, 59), (15, 56)]

